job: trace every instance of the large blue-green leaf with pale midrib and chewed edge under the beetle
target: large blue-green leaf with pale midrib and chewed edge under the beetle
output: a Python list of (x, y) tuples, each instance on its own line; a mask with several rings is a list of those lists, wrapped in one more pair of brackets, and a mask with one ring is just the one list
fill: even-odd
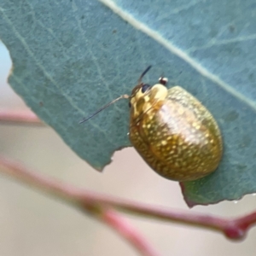
[(130, 146), (128, 102), (90, 119), (117, 96), (164, 73), (196, 96), (224, 137), (218, 170), (182, 183), (189, 206), (256, 192), (256, 3), (71, 0), (0, 3), (9, 83), (81, 158), (98, 170)]

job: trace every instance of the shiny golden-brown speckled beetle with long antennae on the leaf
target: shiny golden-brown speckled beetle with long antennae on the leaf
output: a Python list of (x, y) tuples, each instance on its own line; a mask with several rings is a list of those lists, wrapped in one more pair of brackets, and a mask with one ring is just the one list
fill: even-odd
[(153, 86), (143, 84), (143, 76), (149, 68), (138, 79), (131, 96), (123, 95), (113, 100), (130, 99), (132, 145), (148, 166), (162, 177), (189, 181), (206, 176), (218, 167), (222, 157), (217, 122), (188, 91), (180, 86), (168, 90), (166, 78), (160, 78), (159, 84)]

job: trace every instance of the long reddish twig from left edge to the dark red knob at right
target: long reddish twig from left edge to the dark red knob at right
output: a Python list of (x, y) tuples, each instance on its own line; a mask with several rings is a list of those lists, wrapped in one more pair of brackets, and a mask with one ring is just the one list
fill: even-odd
[(207, 230), (215, 230), (233, 240), (244, 238), (247, 230), (256, 224), (256, 212), (241, 218), (220, 218), (195, 212), (181, 212), (173, 209), (152, 207), (106, 195), (97, 195), (95, 192), (77, 189), (69, 184), (60, 183), (53, 178), (45, 177), (36, 172), (29, 172), (26, 167), (14, 161), (6, 160), (3, 157), (0, 157), (0, 172), (10, 177), (15, 177), (20, 182), (29, 184), (36, 189), (44, 190), (44, 192), (68, 201), (81, 209), (92, 206), (111, 207), (116, 210), (143, 215), (147, 218), (157, 218), (169, 222), (189, 224)]

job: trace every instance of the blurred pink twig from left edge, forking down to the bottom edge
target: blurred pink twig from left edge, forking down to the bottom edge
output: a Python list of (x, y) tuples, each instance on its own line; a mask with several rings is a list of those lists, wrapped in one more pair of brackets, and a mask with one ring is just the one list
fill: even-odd
[[(87, 201), (83, 205), (79, 204), (79, 198), (73, 197), (75, 188), (60, 184), (53, 178), (44, 177), (42, 175), (32, 173), (26, 170), (24, 166), (15, 163), (14, 161), (6, 160), (0, 157), (0, 172), (15, 177), (18, 181), (31, 185), (36, 189), (44, 190), (49, 195), (56, 196), (68, 203), (79, 207), (83, 212), (90, 213), (91, 216), (97, 218), (103, 224), (107, 224), (122, 236), (132, 247), (137, 249), (143, 256), (159, 256), (159, 253), (154, 251), (151, 244), (146, 241), (139, 232), (128, 224), (124, 218), (119, 216), (119, 213), (112, 210), (110, 207), (104, 207), (96, 201)], [(76, 194), (76, 193), (75, 193)]]

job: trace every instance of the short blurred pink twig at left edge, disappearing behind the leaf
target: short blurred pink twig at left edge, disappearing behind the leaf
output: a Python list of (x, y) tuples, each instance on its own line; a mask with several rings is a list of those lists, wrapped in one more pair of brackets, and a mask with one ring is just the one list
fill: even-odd
[(44, 125), (37, 115), (29, 110), (0, 110), (0, 123), (8, 125)]

